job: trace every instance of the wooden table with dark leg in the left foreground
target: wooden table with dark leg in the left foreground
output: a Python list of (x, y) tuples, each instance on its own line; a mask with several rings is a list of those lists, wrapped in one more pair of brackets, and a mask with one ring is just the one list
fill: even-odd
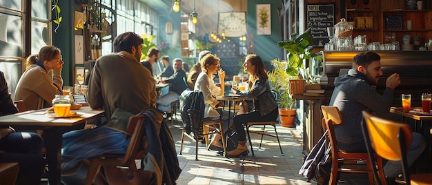
[(60, 166), (63, 133), (84, 128), (88, 119), (103, 115), (104, 110), (92, 110), (89, 106), (83, 106), (79, 110), (73, 110), (81, 116), (72, 118), (55, 118), (45, 114), (45, 110), (30, 110), (0, 117), (0, 126), (12, 126), (19, 130), (43, 130), (49, 184), (61, 184)]

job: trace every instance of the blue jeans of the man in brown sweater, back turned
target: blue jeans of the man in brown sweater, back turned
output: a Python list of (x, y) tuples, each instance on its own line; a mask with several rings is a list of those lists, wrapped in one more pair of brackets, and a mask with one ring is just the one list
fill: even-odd
[(129, 145), (124, 133), (98, 126), (86, 130), (73, 130), (63, 134), (61, 171), (70, 171), (90, 157), (104, 153), (123, 154)]

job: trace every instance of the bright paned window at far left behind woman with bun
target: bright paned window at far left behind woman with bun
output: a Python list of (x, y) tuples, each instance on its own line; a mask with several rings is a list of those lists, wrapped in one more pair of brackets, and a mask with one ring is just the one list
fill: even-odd
[[(0, 70), (5, 73), (12, 97), (24, 70), (23, 62), (26, 57), (52, 42), (49, 31), (51, 1), (32, 0), (31, 14), (24, 9), (26, 2), (0, 1)], [(30, 23), (24, 22), (27, 16), (30, 16)], [(26, 33), (26, 28), (30, 30), (30, 34)], [(26, 40), (29, 39), (27, 46)]]

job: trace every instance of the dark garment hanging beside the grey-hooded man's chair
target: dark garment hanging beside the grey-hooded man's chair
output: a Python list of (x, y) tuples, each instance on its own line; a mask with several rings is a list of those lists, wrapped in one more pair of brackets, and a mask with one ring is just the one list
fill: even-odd
[(327, 130), (320, 140), (313, 146), (311, 152), (306, 157), (299, 175), (312, 179), (317, 184), (328, 184), (331, 173), (331, 145)]

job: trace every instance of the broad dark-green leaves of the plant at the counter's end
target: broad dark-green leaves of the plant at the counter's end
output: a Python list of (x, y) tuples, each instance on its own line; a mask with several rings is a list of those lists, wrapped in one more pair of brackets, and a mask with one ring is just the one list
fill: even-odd
[(277, 46), (284, 48), (288, 52), (288, 62), (292, 68), (287, 68), (286, 72), (295, 72), (288, 70), (296, 68), (297, 75), (302, 75), (307, 84), (311, 82), (311, 75), (308, 68), (304, 66), (312, 57), (313, 42), (311, 28), (308, 28), (300, 35), (293, 33), (288, 40), (277, 42)]

